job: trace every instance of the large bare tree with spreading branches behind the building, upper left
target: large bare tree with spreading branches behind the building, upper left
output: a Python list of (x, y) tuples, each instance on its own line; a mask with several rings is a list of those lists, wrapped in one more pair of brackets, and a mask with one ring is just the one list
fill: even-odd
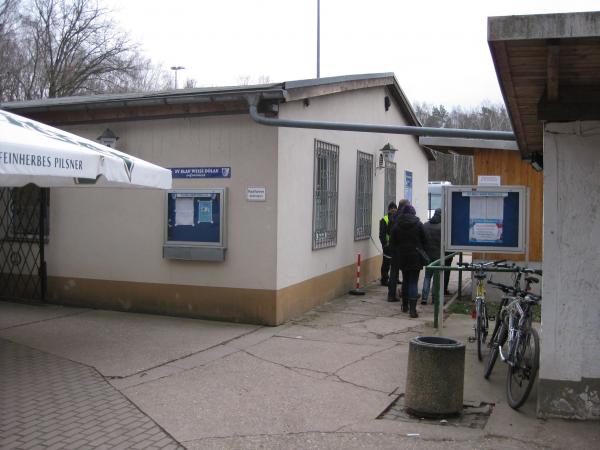
[(136, 45), (95, 0), (33, 0), (23, 28), (27, 98), (113, 90), (140, 68)]

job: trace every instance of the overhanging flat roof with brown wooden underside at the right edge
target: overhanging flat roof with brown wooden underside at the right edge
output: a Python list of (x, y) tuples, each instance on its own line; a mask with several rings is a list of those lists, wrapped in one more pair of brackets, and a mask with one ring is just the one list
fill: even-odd
[(488, 44), (524, 158), (544, 121), (600, 119), (600, 11), (490, 17)]

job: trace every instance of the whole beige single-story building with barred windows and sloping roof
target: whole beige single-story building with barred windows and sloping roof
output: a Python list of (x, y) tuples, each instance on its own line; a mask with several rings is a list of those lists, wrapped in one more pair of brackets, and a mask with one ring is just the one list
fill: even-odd
[(249, 97), (266, 117), (420, 125), (390, 73), (3, 104), (173, 171), (167, 193), (50, 190), (48, 301), (277, 325), (351, 289), (358, 254), (379, 277), (378, 221), (405, 197), (426, 218), (432, 152), (259, 125)]

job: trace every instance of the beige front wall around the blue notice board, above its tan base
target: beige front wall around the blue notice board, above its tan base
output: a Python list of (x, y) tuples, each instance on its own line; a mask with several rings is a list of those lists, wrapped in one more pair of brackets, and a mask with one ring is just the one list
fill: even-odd
[[(232, 168), (231, 178), (173, 180), (174, 188), (228, 188), (225, 261), (163, 259), (165, 192), (52, 189), (51, 277), (275, 289), (276, 129), (247, 115), (66, 128), (95, 139), (107, 127), (120, 136), (119, 149), (164, 167)], [(248, 202), (248, 186), (266, 187), (267, 201)]]

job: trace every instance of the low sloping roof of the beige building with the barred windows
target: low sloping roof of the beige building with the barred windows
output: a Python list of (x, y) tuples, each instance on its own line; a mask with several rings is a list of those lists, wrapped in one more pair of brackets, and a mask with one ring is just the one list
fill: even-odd
[[(127, 111), (131, 113), (127, 117), (136, 120), (142, 117), (139, 111), (134, 112), (132, 109), (150, 109), (147, 111), (148, 118), (156, 117), (159, 110), (163, 114), (171, 115), (186, 111), (187, 114), (217, 111), (242, 113), (248, 111), (246, 102), (248, 95), (260, 94), (264, 100), (284, 102), (376, 86), (386, 86), (389, 89), (409, 125), (421, 125), (393, 73), (348, 75), (251, 86), (46, 98), (2, 103), (0, 107), (32, 118), (50, 119), (53, 124), (109, 120), (111, 118), (110, 111), (115, 116), (112, 117), (113, 120), (123, 120)], [(205, 107), (198, 106), (200, 104), (205, 104)], [(209, 104), (212, 104), (212, 107), (208, 106)], [(182, 105), (187, 105), (187, 107), (182, 107)], [(190, 108), (189, 105), (197, 106)], [(104, 113), (100, 110), (104, 110)], [(69, 112), (77, 114), (73, 116), (73, 114), (68, 114)], [(87, 114), (81, 115), (81, 112)]]

